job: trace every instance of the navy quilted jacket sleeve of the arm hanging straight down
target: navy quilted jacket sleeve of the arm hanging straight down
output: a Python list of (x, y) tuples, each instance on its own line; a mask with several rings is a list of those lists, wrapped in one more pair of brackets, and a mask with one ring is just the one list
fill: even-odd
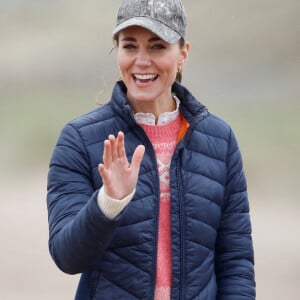
[(245, 174), (233, 132), (227, 156), (227, 183), (216, 243), (218, 300), (255, 299), (254, 257)]

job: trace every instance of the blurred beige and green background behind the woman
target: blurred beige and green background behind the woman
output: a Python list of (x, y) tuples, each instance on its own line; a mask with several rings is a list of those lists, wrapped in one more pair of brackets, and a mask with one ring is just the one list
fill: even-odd
[[(233, 127), (248, 178), (257, 299), (300, 294), (300, 2), (183, 1), (184, 84)], [(119, 78), (120, 1), (0, 0), (1, 299), (73, 299), (48, 254), (46, 179), (66, 122)]]

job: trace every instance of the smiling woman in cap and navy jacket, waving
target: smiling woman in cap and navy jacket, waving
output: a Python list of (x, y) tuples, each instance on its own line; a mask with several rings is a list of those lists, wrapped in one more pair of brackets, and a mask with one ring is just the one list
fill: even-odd
[(177, 0), (124, 0), (122, 80), (62, 130), (48, 176), (49, 248), (76, 299), (254, 299), (246, 181), (230, 127), (180, 81)]

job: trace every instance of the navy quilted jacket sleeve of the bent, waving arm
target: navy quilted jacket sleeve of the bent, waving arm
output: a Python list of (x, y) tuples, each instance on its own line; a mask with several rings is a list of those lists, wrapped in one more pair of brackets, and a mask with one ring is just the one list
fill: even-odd
[(100, 210), (91, 174), (82, 138), (67, 125), (50, 161), (47, 205), (49, 250), (57, 266), (69, 274), (93, 265), (119, 225), (120, 215), (109, 219)]

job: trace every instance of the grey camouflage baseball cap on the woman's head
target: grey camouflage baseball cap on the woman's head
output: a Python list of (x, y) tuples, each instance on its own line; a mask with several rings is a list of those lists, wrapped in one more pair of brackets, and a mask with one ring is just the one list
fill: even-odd
[(174, 44), (185, 38), (185, 10), (180, 0), (123, 0), (113, 36), (130, 26), (144, 27)]

